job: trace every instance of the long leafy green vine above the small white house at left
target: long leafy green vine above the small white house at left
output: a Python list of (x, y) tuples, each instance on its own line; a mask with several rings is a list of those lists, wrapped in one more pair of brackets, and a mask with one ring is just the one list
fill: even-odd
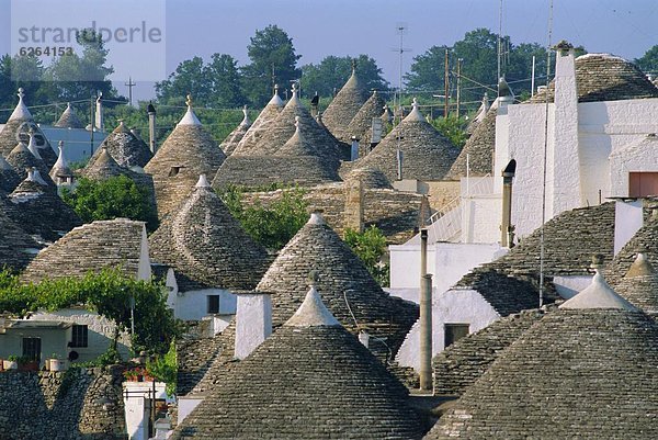
[(22, 284), (18, 277), (0, 272), (0, 309), (19, 316), (30, 311), (58, 311), (83, 305), (113, 320), (116, 329), (112, 351), (116, 359), (116, 345), (121, 331), (131, 328), (131, 304), (135, 307), (135, 335), (133, 350), (163, 353), (180, 332), (173, 312), (167, 306), (167, 293), (161, 284), (137, 281), (125, 277), (118, 269), (105, 269), (82, 278), (44, 280), (38, 284)]

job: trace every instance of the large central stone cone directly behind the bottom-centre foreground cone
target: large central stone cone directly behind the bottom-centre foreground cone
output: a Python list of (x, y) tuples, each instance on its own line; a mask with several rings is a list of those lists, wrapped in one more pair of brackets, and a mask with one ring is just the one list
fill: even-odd
[(418, 318), (418, 306), (384, 292), (317, 213), (281, 250), (257, 286), (272, 294), (273, 325), (282, 325), (299, 307), (311, 271), (318, 272), (317, 287), (340, 323), (353, 332), (366, 329), (387, 338), (395, 356)]

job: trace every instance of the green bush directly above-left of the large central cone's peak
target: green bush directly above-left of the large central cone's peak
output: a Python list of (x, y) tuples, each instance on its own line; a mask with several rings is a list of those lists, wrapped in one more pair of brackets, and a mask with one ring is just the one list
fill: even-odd
[(300, 188), (283, 190), (281, 198), (266, 206), (259, 200), (246, 206), (245, 193), (245, 189), (229, 185), (219, 196), (245, 232), (268, 249), (283, 248), (308, 221), (308, 203), (304, 201), (305, 190)]

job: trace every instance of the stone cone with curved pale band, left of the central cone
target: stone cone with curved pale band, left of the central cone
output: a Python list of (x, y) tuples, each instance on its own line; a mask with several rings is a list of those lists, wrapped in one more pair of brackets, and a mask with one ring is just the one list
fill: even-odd
[(189, 282), (179, 290), (252, 290), (268, 269), (266, 250), (245, 233), (202, 176), (150, 236), (152, 259)]

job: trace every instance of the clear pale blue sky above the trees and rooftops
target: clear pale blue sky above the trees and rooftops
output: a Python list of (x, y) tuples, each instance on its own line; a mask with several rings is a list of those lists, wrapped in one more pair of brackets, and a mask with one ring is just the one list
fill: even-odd
[[(59, 7), (48, 12), (49, 23), (68, 22), (76, 3), (95, 3), (105, 8), (117, 0), (13, 0)], [(433, 45), (452, 45), (477, 27), (499, 29), (500, 0), (150, 0), (152, 14), (131, 4), (143, 2), (118, 0), (115, 8), (121, 16), (134, 20), (158, 16), (162, 20), (164, 45), (156, 55), (123, 56), (112, 59), (126, 76), (131, 70), (144, 70), (157, 65), (158, 78), (193, 56), (206, 60), (214, 53), (234, 56), (240, 65), (249, 61), (247, 45), (257, 30), (276, 24), (293, 38), (300, 65), (319, 63), (328, 55), (356, 56), (367, 54), (393, 84), (399, 79), (399, 26), (405, 26), (402, 70), (407, 71), (412, 57)], [(66, 7), (63, 7), (66, 4)], [(32, 11), (38, 8), (32, 8)], [(15, 11), (12, 0), (0, 0), (0, 54), (12, 48), (12, 25), (29, 22), (26, 14)], [(513, 44), (547, 43), (548, 0), (502, 0), (502, 33)], [(163, 14), (162, 14), (163, 12)], [(124, 15), (125, 14), (125, 15)], [(116, 13), (116, 15), (120, 15)], [(33, 15), (29, 15), (33, 16)], [(658, 1), (656, 0), (554, 0), (553, 43), (567, 40), (583, 45), (588, 52), (605, 52), (626, 59), (640, 57), (658, 44)], [(465, 60), (467, 63), (467, 60)], [(139, 75), (136, 75), (139, 77)], [(151, 75), (152, 76), (152, 75)], [(115, 78), (118, 91), (127, 95), (123, 82)], [(152, 82), (139, 78), (134, 93), (150, 98)]]

